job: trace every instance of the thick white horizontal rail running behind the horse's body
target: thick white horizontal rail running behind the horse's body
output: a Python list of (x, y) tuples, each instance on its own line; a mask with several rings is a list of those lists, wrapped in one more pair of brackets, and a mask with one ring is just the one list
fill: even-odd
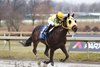
[[(0, 40), (26, 40), (29, 37), (20, 36), (0, 36)], [(100, 37), (67, 37), (68, 41), (100, 41)]]

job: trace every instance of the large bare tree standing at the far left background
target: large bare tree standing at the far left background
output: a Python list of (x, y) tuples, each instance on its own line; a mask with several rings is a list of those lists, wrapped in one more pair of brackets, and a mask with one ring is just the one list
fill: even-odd
[(5, 6), (5, 20), (8, 31), (19, 31), (20, 22), (23, 18), (22, 10), (25, 5), (25, 0), (7, 0)]

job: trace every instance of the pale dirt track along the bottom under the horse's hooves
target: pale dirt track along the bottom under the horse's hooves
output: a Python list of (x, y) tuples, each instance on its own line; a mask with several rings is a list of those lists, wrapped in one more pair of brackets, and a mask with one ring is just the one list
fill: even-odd
[(44, 64), (38, 61), (18, 61), (18, 60), (0, 60), (0, 67), (100, 67), (99, 64), (81, 64), (81, 63), (60, 63)]

